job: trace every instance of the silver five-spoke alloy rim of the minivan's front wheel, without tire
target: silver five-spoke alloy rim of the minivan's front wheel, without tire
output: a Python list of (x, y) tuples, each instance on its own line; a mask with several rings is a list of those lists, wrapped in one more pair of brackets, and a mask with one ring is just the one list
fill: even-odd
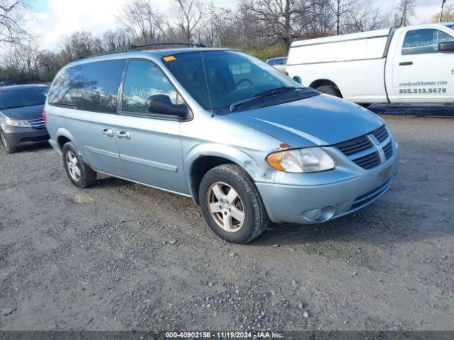
[(244, 205), (238, 192), (224, 182), (211, 184), (206, 202), (214, 221), (226, 232), (238, 232), (245, 220)]

